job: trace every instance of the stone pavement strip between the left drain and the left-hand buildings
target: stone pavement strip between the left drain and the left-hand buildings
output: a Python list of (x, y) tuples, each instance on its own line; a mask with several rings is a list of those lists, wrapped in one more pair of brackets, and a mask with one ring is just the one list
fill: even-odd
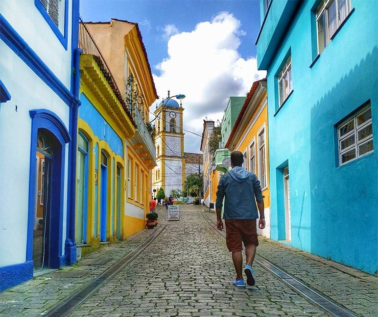
[(145, 242), (152, 233), (153, 230), (143, 230), (125, 241), (103, 245), (83, 257), (77, 265), (34, 277), (0, 293), (0, 316), (39, 316), (103, 273), (139, 244)]

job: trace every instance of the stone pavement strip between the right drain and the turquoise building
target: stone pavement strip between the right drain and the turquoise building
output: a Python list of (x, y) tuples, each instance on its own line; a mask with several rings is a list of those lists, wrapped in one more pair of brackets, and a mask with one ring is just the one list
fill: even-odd
[[(215, 213), (206, 215), (216, 221)], [(378, 316), (378, 277), (263, 236), (257, 254), (358, 315)]]

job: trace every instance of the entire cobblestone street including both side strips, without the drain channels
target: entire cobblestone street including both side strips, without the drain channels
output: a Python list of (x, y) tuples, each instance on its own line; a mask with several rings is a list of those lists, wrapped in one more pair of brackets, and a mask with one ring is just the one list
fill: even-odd
[[(225, 240), (192, 205), (180, 221), (158, 210), (156, 239), (69, 315), (77, 316), (326, 316), (261, 266), (257, 283), (237, 288)], [(215, 217), (214, 214), (207, 214)], [(155, 230), (102, 247), (74, 267), (34, 278), (1, 294), (1, 316), (37, 316), (101, 274)], [(358, 315), (378, 314), (378, 278), (261, 237), (257, 253)]]

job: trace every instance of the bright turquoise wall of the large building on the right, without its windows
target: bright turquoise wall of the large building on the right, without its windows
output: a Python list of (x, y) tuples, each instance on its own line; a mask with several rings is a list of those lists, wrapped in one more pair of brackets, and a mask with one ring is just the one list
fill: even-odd
[[(313, 63), (314, 4), (304, 2), (295, 9), (266, 65), (271, 237), (285, 239), (282, 172), (289, 166), (292, 241), (287, 244), (374, 274), (378, 271), (378, 2), (352, 0), (350, 16)], [(270, 21), (268, 16), (264, 28), (274, 30)], [(265, 49), (257, 47), (259, 56)], [(294, 91), (277, 111), (276, 74), (288, 52)], [(368, 99), (374, 152), (339, 166), (335, 126)]]

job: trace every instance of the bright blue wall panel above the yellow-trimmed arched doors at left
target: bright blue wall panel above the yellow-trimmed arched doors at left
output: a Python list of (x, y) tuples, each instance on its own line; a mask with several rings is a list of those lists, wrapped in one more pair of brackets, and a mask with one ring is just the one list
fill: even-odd
[(122, 139), (83, 93), (80, 94), (80, 101), (79, 117), (90, 125), (93, 133), (100, 140), (104, 140), (109, 144), (115, 154), (123, 157), (124, 147)]

